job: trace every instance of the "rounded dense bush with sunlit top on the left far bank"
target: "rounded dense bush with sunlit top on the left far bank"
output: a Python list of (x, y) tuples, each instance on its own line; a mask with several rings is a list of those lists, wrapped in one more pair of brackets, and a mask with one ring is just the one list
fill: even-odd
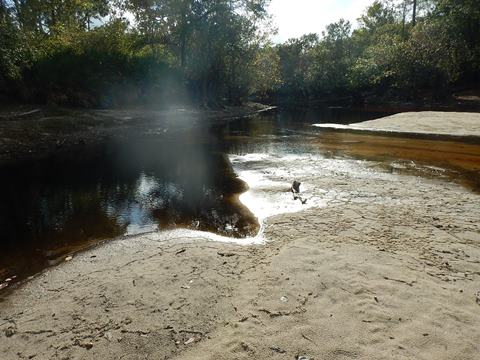
[[(174, 98), (181, 77), (160, 45), (137, 48), (127, 25), (114, 21), (78, 34), (57, 33), (29, 71), (37, 97), (69, 105), (119, 106), (146, 102), (152, 92)], [(176, 81), (172, 81), (172, 79)], [(169, 81), (170, 91), (160, 89)], [(170, 93), (170, 94), (167, 94)], [(159, 104), (161, 105), (161, 104)]]

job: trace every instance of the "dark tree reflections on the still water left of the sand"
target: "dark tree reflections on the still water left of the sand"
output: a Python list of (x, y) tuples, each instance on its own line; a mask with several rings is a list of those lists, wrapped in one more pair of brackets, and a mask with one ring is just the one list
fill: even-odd
[(85, 148), (0, 168), (0, 271), (37, 271), (125, 234), (135, 220), (254, 235), (258, 222), (237, 201), (244, 184), (228, 158), (212, 151), (208, 137), (175, 140)]

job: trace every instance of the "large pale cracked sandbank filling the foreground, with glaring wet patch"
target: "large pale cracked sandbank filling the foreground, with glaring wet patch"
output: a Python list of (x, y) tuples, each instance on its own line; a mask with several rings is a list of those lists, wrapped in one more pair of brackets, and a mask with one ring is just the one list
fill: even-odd
[(478, 357), (480, 195), (355, 159), (232, 163), (249, 208), (295, 212), (264, 213), (249, 245), (119, 238), (0, 293), (3, 358)]

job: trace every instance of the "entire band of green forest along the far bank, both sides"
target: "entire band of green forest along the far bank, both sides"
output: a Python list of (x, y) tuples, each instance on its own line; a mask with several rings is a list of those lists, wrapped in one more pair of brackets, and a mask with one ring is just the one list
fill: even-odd
[(268, 0), (0, 0), (0, 101), (80, 107), (447, 99), (480, 81), (478, 0), (377, 0), (272, 42)]

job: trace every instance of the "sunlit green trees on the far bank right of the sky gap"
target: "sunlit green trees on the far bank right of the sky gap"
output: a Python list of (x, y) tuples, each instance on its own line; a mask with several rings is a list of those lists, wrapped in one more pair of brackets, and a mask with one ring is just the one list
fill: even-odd
[(480, 84), (478, 0), (375, 1), (352, 31), (348, 21), (262, 49), (263, 94), (305, 102), (445, 100)]

